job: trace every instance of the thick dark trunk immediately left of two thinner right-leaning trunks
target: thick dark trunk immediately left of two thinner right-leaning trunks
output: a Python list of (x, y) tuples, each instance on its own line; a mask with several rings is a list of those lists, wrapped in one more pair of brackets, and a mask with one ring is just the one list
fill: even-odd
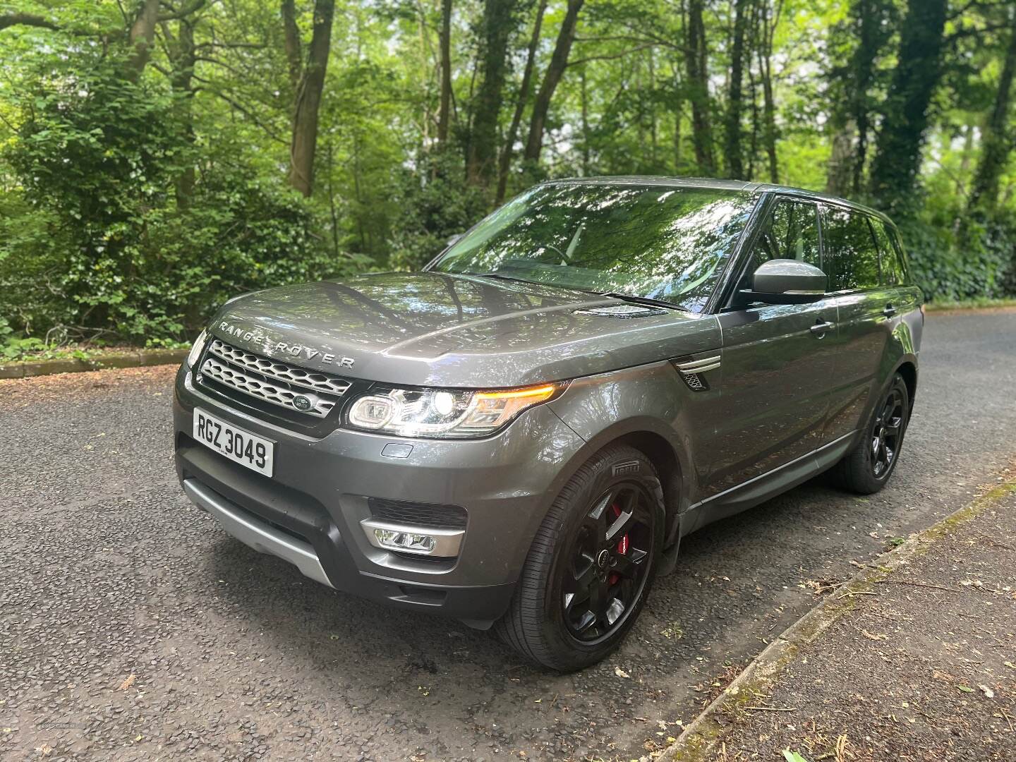
[(508, 40), (517, 0), (485, 0), (482, 21), (484, 78), (477, 91), (466, 179), (487, 187), (497, 165), (498, 116), (508, 68)]

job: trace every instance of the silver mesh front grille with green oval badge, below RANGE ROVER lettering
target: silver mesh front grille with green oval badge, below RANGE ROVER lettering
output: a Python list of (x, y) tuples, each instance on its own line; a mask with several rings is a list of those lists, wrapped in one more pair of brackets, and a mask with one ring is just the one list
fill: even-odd
[[(308, 371), (212, 339), (200, 376), (297, 412), (325, 418), (350, 388), (343, 378)], [(200, 377), (199, 377), (199, 380)]]

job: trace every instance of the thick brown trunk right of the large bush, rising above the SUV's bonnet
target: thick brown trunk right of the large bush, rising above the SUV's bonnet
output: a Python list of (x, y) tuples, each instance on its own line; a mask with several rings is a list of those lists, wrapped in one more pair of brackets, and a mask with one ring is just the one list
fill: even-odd
[(290, 146), (290, 185), (304, 196), (314, 191), (314, 152), (317, 148), (318, 111), (331, 47), (334, 0), (315, 0), (314, 31), (297, 86), (293, 107), (293, 142)]

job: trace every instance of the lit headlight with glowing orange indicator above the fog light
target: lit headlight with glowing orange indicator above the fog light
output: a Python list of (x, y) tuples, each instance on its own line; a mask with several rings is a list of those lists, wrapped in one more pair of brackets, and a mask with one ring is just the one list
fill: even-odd
[(509, 391), (380, 389), (358, 398), (346, 421), (357, 429), (402, 437), (484, 437), (561, 389), (558, 384)]

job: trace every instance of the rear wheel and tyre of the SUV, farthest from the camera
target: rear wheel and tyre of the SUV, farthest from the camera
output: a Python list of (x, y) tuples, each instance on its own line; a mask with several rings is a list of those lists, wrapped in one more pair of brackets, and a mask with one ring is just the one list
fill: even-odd
[(909, 393), (897, 373), (876, 403), (853, 449), (833, 467), (836, 484), (859, 495), (871, 495), (885, 487), (896, 468), (909, 415)]

